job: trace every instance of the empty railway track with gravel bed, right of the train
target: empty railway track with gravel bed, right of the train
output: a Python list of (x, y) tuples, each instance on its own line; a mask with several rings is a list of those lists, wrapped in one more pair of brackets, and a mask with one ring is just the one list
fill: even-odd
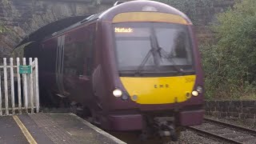
[(256, 144), (256, 130), (210, 118), (204, 118), (201, 126), (188, 126), (188, 129), (222, 142)]

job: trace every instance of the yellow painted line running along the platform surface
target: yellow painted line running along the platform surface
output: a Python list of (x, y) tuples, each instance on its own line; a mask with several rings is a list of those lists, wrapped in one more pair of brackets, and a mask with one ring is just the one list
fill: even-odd
[(37, 142), (35, 142), (34, 138), (30, 134), (29, 130), (26, 129), (26, 126), (23, 125), (22, 121), (18, 118), (18, 116), (13, 115), (13, 118), (18, 124), (19, 128), (22, 130), (22, 133), (25, 135), (27, 141), (30, 142), (30, 144), (37, 144)]

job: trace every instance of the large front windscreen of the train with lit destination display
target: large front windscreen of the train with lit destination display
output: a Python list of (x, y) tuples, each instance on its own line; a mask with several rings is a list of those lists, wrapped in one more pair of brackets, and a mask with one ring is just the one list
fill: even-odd
[[(164, 22), (114, 24), (118, 69), (193, 70), (192, 46), (186, 26)], [(177, 71), (177, 70), (176, 70)]]

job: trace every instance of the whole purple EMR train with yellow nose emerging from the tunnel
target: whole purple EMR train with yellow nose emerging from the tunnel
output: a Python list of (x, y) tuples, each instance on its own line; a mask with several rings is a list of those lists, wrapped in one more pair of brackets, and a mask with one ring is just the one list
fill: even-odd
[(48, 35), (24, 56), (38, 58), (40, 90), (50, 100), (69, 99), (103, 130), (176, 141), (184, 127), (202, 123), (194, 25), (162, 2), (116, 2)]

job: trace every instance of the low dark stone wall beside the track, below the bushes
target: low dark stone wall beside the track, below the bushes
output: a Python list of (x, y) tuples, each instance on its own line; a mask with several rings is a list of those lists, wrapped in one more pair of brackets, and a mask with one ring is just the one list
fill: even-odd
[(206, 115), (256, 122), (256, 101), (206, 101)]

